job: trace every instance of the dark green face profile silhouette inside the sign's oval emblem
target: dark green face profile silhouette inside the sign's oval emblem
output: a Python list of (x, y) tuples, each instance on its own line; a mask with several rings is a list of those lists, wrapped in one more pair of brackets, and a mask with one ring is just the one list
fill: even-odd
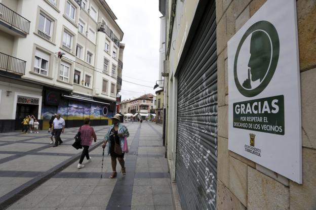
[(248, 67), (251, 80), (260, 82), (266, 75), (271, 60), (271, 44), (269, 36), (263, 31), (254, 31), (250, 42), (250, 59)]

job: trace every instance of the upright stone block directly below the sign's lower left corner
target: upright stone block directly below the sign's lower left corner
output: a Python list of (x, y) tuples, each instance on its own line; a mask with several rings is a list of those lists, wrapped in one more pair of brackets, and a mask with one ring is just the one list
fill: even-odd
[(229, 157), (229, 189), (247, 206), (247, 164)]

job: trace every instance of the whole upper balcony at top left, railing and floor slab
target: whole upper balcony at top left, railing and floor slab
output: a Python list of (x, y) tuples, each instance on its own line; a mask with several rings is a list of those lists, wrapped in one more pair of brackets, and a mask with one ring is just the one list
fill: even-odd
[[(0, 29), (12, 35), (26, 37), (30, 21), (0, 3)], [(11, 30), (8, 30), (11, 29)]]

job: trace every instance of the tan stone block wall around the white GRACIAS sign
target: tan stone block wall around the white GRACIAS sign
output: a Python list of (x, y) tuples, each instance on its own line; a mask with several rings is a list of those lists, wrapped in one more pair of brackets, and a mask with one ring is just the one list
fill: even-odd
[(227, 41), (266, 0), (216, 0), (218, 54), (217, 209), (316, 209), (316, 1), (297, 1), (303, 184), (228, 151)]

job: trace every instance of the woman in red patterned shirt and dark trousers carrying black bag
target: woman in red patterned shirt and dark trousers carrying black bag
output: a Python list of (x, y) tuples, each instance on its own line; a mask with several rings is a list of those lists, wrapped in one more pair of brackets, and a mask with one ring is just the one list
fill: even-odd
[(95, 134), (93, 128), (90, 126), (90, 118), (85, 118), (84, 125), (80, 127), (79, 131), (81, 133), (81, 145), (83, 146), (84, 150), (81, 154), (79, 163), (77, 168), (81, 169), (85, 165), (83, 165), (84, 158), (87, 158), (87, 163), (91, 162), (91, 157), (89, 156), (89, 147), (91, 146), (92, 139), (94, 142), (97, 141), (97, 135)]

